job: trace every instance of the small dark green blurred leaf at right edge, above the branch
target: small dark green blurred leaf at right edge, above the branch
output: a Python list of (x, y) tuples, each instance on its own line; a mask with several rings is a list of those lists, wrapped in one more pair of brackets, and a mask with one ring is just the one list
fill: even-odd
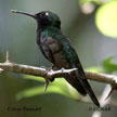
[(103, 68), (106, 73), (117, 72), (117, 64), (112, 63), (113, 56), (103, 62)]

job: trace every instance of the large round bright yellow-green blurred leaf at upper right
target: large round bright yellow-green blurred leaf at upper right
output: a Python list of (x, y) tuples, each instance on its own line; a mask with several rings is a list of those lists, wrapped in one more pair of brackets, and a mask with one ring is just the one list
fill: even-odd
[(104, 3), (98, 9), (95, 24), (103, 35), (117, 38), (117, 1)]

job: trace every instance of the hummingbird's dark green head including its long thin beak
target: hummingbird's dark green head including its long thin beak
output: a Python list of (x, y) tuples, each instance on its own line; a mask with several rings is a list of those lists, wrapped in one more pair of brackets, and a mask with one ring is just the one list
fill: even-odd
[(29, 13), (25, 13), (25, 12), (15, 11), (15, 10), (12, 10), (11, 12), (20, 13), (20, 14), (24, 14), (24, 15), (28, 15), (30, 17), (34, 17), (37, 21), (38, 26), (40, 28), (44, 28), (48, 26), (61, 28), (60, 17), (55, 13), (52, 13), (50, 11), (42, 11), (42, 12), (39, 12), (36, 14), (29, 14)]

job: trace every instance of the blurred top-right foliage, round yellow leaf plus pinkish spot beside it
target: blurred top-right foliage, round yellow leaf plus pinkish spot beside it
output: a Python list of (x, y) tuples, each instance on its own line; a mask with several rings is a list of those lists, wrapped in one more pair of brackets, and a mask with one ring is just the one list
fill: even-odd
[(86, 14), (95, 10), (95, 25), (103, 35), (117, 38), (117, 0), (78, 0), (78, 2)]

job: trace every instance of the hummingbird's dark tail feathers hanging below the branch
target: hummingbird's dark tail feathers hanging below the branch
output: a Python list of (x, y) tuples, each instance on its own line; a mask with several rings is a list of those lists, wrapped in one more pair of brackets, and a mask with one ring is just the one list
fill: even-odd
[(83, 70), (76, 72), (73, 76), (66, 76), (65, 79), (82, 95), (86, 95), (87, 93), (90, 95), (91, 100), (96, 106), (100, 106), (100, 103), (92, 91), (92, 88), (90, 87), (88, 80), (86, 79)]

